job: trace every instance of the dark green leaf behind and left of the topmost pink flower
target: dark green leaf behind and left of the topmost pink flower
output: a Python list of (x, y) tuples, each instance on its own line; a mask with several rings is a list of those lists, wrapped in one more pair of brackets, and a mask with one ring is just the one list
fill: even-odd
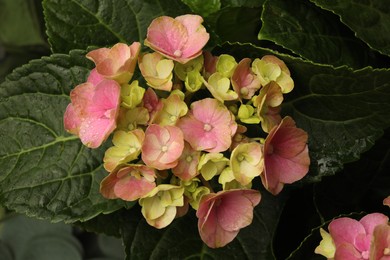
[(189, 13), (180, 0), (44, 0), (43, 7), (51, 47), (62, 53), (92, 45), (143, 43), (157, 16)]

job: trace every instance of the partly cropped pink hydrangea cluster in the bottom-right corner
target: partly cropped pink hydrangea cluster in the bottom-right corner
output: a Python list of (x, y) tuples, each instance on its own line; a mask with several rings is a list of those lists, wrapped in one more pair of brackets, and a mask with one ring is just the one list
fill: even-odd
[(390, 259), (389, 218), (381, 213), (371, 213), (360, 221), (342, 217), (333, 220), (329, 233), (320, 229), (322, 241), (315, 253), (327, 259)]

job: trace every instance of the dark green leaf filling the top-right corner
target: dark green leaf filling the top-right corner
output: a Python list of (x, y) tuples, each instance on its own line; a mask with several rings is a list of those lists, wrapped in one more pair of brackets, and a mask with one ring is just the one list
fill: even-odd
[(390, 55), (390, 9), (387, 1), (310, 1), (339, 15), (341, 21), (371, 48)]

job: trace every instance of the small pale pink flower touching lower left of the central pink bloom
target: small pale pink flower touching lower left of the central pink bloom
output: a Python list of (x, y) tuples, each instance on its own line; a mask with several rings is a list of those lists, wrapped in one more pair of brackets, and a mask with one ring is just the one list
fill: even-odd
[(158, 170), (173, 168), (184, 149), (182, 131), (176, 126), (152, 124), (145, 131), (142, 160)]

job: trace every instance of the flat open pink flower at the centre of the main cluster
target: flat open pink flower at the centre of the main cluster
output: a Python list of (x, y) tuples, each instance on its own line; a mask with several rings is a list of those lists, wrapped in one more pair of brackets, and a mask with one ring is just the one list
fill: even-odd
[(184, 139), (197, 151), (218, 153), (232, 144), (237, 123), (231, 112), (218, 100), (205, 98), (191, 104), (191, 110), (182, 117), (177, 126)]

